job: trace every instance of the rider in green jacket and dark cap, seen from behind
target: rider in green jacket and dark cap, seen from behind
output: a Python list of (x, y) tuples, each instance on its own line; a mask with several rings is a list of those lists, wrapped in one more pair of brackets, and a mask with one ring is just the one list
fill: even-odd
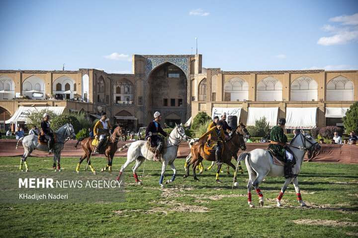
[(278, 156), (285, 159), (285, 164), (283, 167), (284, 171), (284, 178), (295, 178), (297, 175), (292, 174), (292, 160), (293, 155), (285, 149), (286, 142), (287, 142), (287, 136), (283, 132), (283, 127), (286, 124), (286, 119), (279, 118), (277, 125), (273, 126), (270, 133), (270, 139), (271, 142), (269, 144), (269, 149), (273, 151), (273, 153)]

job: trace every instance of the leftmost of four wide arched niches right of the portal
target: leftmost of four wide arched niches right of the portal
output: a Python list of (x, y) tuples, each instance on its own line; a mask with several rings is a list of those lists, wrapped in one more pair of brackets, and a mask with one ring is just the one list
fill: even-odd
[(225, 101), (249, 100), (249, 84), (239, 77), (230, 78), (224, 84)]

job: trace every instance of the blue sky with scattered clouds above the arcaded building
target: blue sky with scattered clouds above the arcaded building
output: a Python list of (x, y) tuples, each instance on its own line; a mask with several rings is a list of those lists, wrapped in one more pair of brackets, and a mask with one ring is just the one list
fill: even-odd
[(358, 69), (357, 0), (0, 0), (0, 30), (0, 69), (131, 73), (195, 37), (206, 68)]

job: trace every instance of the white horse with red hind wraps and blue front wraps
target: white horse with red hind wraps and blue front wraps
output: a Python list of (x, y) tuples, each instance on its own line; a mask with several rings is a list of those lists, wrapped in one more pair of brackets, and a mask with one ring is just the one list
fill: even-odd
[[(167, 140), (167, 147), (164, 147), (163, 149), (166, 149), (167, 152), (163, 155), (163, 166), (162, 166), (162, 174), (161, 178), (159, 180), (159, 184), (164, 187), (163, 185), (163, 179), (165, 170), (168, 165), (172, 168), (174, 174), (172, 179), (167, 180), (165, 183), (173, 182), (177, 175), (177, 169), (174, 165), (174, 160), (177, 158), (178, 153), (178, 147), (180, 142), (187, 141), (187, 136), (185, 135), (184, 128), (182, 127), (182, 124), (177, 124), (176, 127), (172, 130)], [(124, 148), (127, 148), (129, 146), (128, 152), (127, 152), (127, 161), (125, 164), (121, 167), (121, 170), (118, 174), (117, 180), (120, 179), (123, 170), (130, 165), (133, 161), (136, 160), (135, 165), (132, 168), (134, 178), (136, 182), (138, 182), (139, 185), (142, 185), (143, 183), (138, 179), (137, 176), (137, 169), (138, 167), (147, 159), (147, 160), (154, 160), (154, 153), (149, 151), (147, 149), (147, 141), (145, 140), (137, 140), (131, 144), (126, 144), (122, 148), (119, 149), (121, 151)]]

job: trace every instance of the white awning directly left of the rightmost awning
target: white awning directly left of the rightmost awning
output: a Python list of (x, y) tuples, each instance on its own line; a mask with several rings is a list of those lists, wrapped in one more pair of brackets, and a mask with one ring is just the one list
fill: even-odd
[(316, 127), (317, 108), (286, 108), (286, 129)]

